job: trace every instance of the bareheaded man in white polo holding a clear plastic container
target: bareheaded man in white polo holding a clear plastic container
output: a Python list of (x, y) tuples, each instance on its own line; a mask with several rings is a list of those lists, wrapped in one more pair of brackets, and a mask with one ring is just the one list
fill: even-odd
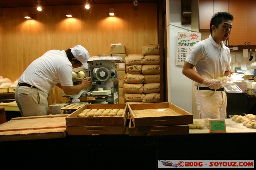
[[(210, 22), (211, 35), (189, 50), (182, 73), (195, 81), (199, 118), (226, 118), (227, 96), (218, 77), (234, 73), (230, 67), (230, 50), (223, 41), (231, 33), (233, 16), (217, 12)], [(196, 68), (193, 70), (193, 68)]]

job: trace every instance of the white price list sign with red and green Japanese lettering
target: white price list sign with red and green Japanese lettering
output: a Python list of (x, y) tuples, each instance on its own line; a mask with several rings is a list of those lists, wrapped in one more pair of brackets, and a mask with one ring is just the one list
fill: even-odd
[(184, 65), (189, 49), (201, 41), (201, 33), (179, 32), (177, 36), (176, 65)]

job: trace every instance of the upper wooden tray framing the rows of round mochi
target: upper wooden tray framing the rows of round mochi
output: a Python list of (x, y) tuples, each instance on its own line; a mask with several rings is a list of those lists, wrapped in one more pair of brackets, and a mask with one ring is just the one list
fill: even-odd
[[(123, 116), (99, 116), (99, 117), (77, 117), (79, 113), (81, 113), (85, 109), (121, 109), (124, 108)], [(66, 117), (66, 125), (67, 127), (76, 126), (124, 126), (124, 122), (127, 117), (127, 105), (126, 104), (88, 104), (79, 108), (68, 117)], [(68, 128), (69, 129), (69, 128)]]

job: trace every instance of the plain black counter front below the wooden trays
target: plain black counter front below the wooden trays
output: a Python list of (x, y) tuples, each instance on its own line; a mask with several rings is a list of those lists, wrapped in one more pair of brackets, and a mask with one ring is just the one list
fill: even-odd
[(2, 165), (10, 168), (158, 169), (158, 160), (253, 160), (249, 148), (254, 137), (255, 133), (67, 136), (0, 142), (0, 148)]

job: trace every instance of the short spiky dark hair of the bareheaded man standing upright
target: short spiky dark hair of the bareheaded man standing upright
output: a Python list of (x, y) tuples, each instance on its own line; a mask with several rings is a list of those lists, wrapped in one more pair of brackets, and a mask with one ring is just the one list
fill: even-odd
[(233, 17), (233, 15), (231, 15), (228, 12), (217, 12), (217, 13), (215, 13), (212, 16), (211, 23), (210, 23), (211, 34), (212, 34), (212, 25), (214, 25), (214, 26), (216, 26), (216, 28), (218, 28), (220, 23), (222, 23), (223, 19), (228, 19), (228, 20), (233, 21), (234, 17)]

